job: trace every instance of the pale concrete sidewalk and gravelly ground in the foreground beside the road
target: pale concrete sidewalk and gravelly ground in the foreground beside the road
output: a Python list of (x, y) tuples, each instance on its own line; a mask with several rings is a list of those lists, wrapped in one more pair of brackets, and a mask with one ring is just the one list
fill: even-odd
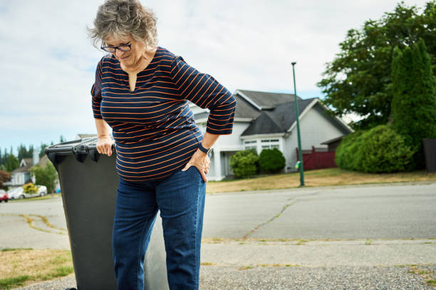
[[(436, 279), (435, 261), (436, 240), (207, 242), (200, 289), (436, 289), (425, 282)], [(20, 289), (73, 286), (68, 276)]]

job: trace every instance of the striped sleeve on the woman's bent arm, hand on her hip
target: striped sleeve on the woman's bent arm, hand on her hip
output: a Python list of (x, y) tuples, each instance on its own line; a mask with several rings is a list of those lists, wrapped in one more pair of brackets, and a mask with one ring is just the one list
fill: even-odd
[(171, 64), (171, 78), (179, 95), (203, 109), (209, 109), (206, 131), (232, 134), (236, 99), (211, 75), (200, 73), (178, 56)]

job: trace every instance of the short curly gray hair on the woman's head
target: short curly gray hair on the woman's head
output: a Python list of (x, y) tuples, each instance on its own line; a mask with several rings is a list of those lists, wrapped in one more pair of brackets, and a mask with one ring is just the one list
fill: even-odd
[(125, 38), (130, 33), (147, 47), (157, 46), (156, 17), (137, 0), (106, 0), (98, 7), (94, 28), (88, 28), (95, 48), (106, 45), (109, 36)]

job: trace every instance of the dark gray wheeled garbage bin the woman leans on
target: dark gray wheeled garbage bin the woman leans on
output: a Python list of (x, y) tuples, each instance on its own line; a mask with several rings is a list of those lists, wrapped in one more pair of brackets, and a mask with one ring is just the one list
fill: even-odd
[[(112, 227), (118, 174), (115, 154), (98, 154), (97, 138), (48, 146), (58, 171), (78, 290), (116, 289)], [(157, 215), (144, 262), (145, 290), (169, 289), (162, 220)]]

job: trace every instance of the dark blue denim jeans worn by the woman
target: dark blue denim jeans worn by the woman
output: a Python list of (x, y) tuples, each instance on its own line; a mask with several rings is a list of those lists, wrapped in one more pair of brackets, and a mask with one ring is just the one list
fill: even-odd
[(160, 210), (171, 290), (198, 289), (206, 183), (198, 169), (162, 181), (120, 178), (113, 225), (117, 289), (144, 289), (144, 258)]

